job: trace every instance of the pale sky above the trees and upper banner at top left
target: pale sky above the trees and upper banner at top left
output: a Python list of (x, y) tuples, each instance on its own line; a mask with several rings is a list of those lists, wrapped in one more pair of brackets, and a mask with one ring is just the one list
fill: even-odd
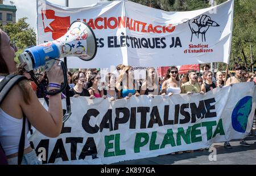
[[(14, 2), (14, 5), (17, 8), (16, 11), (16, 21), (19, 18), (27, 17), (27, 23), (31, 25), (36, 31), (36, 0), (11, 0)], [(51, 3), (55, 3), (56, 5), (65, 5), (65, 0), (48, 0)], [(100, 2), (102, 0), (69, 0), (69, 7), (79, 7), (79, 6), (87, 6), (93, 3)], [(106, 0), (103, 0), (106, 1)], [(3, 4), (10, 5), (9, 0), (4, 0)]]

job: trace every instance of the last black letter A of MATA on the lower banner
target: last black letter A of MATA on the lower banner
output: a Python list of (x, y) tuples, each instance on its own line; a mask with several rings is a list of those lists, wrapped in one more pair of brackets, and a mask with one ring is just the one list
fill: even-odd
[[(90, 149), (90, 150), (89, 150)], [(79, 155), (79, 160), (84, 160), (86, 156), (92, 156), (92, 158), (97, 157), (97, 148), (93, 138), (87, 138), (82, 152)]]

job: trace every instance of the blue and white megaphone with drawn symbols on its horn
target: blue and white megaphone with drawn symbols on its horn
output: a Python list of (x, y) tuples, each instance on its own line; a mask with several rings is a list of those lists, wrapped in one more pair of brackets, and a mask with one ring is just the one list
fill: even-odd
[(27, 48), (18, 59), (21, 63), (26, 63), (25, 68), (29, 72), (40, 66), (49, 70), (56, 58), (75, 56), (90, 61), (96, 52), (96, 37), (92, 29), (82, 21), (75, 21), (64, 36), (55, 41)]

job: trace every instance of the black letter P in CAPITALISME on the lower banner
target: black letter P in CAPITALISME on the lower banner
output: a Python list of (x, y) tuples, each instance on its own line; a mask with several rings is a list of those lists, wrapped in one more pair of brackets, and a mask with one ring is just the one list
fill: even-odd
[[(122, 118), (119, 118), (120, 113), (123, 114)], [(126, 123), (129, 121), (130, 110), (128, 108), (116, 108), (115, 115), (116, 115), (116, 117), (115, 117), (115, 123), (114, 123), (114, 130), (118, 130), (119, 124)]]

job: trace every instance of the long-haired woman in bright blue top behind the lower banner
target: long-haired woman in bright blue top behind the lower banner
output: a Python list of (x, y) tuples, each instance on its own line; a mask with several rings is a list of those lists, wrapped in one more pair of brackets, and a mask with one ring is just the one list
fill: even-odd
[(129, 98), (132, 95), (139, 96), (137, 87), (134, 83), (133, 67), (126, 66), (118, 76), (115, 87), (118, 90), (118, 98)]

